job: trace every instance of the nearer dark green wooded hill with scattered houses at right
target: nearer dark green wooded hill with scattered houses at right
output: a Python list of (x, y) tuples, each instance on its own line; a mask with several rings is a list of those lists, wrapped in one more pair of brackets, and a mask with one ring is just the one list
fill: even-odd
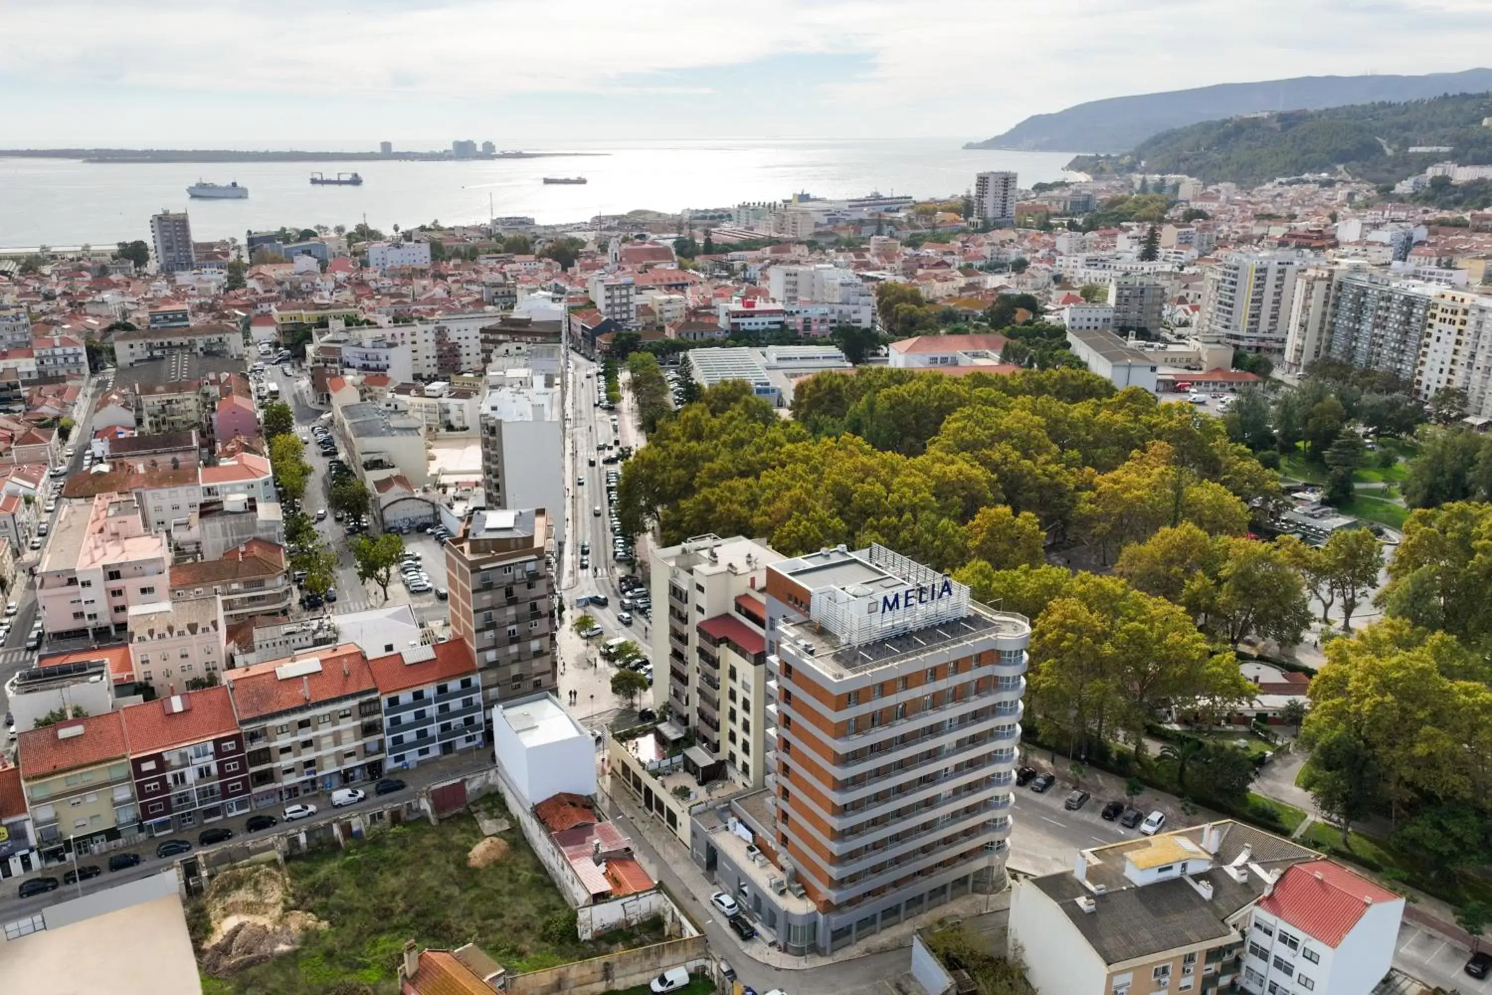
[[(1250, 115), (1162, 131), (1123, 155), (1080, 155), (1068, 169), (1185, 173), (1210, 183), (1303, 173), (1391, 183), (1444, 160), (1492, 163), (1492, 128), (1482, 124), (1488, 116), (1492, 94)], [(1455, 151), (1410, 154), (1414, 146)]]

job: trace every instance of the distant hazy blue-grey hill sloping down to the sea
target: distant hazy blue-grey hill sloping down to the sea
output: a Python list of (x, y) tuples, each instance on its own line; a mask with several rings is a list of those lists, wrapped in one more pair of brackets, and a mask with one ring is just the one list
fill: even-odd
[(1423, 100), (1492, 90), (1492, 69), (1426, 76), (1298, 76), (1258, 84), (1091, 100), (1026, 118), (1004, 134), (965, 149), (1126, 152), (1153, 134), (1188, 124), (1259, 110), (1320, 110), (1346, 104)]

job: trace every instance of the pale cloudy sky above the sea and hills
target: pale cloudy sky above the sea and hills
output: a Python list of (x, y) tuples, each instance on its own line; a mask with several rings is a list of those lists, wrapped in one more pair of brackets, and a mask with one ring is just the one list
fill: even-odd
[(1492, 0), (0, 0), (0, 24), (6, 148), (983, 139), (1103, 97), (1492, 63)]

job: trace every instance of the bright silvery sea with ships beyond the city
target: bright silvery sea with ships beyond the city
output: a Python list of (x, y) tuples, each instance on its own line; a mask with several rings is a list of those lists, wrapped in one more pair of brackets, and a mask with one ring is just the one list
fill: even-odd
[[(653, 140), (521, 146), (528, 152), (583, 152), (527, 160), (372, 163), (143, 163), (0, 158), (0, 248), (149, 242), (149, 218), (188, 210), (192, 237), (243, 239), (266, 228), (312, 228), (360, 221), (385, 233), (485, 222), (522, 215), (539, 224), (586, 222), (595, 215), (649, 209), (731, 207), (780, 201), (798, 192), (953, 197), (980, 170), (1015, 170), (1022, 186), (1064, 178), (1070, 152), (962, 149), (964, 139), (876, 140)], [(184, 146), (191, 148), (191, 146)], [(242, 148), (307, 148), (257, 143)], [(433, 148), (404, 146), (395, 148)], [(319, 148), (315, 151), (343, 151)], [(351, 149), (349, 149), (351, 151)], [(312, 172), (357, 170), (361, 186), (313, 186)], [(545, 185), (545, 176), (585, 176), (583, 185)], [(245, 200), (191, 200), (198, 181), (249, 188)]]

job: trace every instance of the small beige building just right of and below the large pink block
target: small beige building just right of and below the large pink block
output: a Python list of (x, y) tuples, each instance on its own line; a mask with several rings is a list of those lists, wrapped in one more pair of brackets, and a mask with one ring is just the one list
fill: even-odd
[(136, 676), (157, 694), (210, 682), (228, 665), (222, 603), (210, 594), (130, 609), (128, 638)]

